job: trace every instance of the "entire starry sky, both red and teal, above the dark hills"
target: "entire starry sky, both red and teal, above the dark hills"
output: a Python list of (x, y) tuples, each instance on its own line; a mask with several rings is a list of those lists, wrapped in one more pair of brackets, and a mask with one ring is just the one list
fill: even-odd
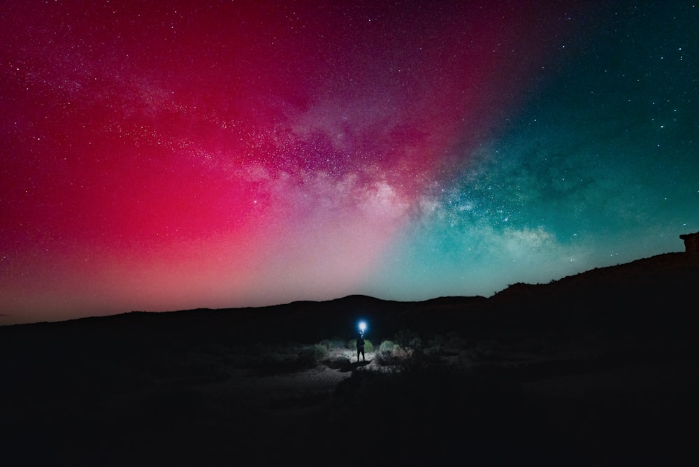
[(492, 296), (699, 231), (691, 1), (0, 10), (0, 324)]

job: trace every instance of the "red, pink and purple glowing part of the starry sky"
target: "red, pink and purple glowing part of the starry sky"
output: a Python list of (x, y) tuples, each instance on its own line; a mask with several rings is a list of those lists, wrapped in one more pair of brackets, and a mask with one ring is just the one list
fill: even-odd
[(559, 12), (491, 3), (6, 4), (0, 312), (356, 292), (535, 86)]

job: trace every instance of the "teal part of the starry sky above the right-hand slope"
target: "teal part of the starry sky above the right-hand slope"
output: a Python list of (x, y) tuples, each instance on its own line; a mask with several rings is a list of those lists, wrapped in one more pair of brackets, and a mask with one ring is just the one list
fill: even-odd
[(699, 230), (697, 10), (608, 2), (571, 20), (521, 109), (421, 201), (375, 288), (490, 296), (683, 251)]

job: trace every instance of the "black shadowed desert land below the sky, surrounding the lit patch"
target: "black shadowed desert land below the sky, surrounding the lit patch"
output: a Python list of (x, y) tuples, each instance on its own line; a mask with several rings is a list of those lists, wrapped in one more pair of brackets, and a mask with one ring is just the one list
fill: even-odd
[[(1, 463), (697, 465), (698, 271), (672, 253), (490, 299), (1, 326)], [(377, 347), (422, 345), (280, 363), (359, 317)]]

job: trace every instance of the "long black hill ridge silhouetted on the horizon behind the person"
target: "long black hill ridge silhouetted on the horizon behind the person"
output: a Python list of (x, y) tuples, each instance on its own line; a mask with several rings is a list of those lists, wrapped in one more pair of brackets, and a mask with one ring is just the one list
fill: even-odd
[(350, 295), (259, 308), (134, 311), (65, 322), (0, 326), (0, 337), (9, 345), (13, 336), (87, 333), (90, 329), (115, 338), (128, 334), (131, 340), (171, 336), (190, 341), (234, 336), (241, 343), (312, 342), (331, 336), (352, 338), (359, 317), (371, 320), (370, 339), (389, 338), (405, 328), (431, 333), (473, 329), (473, 322), (529, 327), (553, 317), (586, 321), (590, 326), (607, 320), (654, 328), (672, 324), (675, 329), (693, 322), (698, 284), (698, 257), (676, 252), (595, 268), (547, 284), (517, 283), (490, 298), (442, 296), (404, 302)]

